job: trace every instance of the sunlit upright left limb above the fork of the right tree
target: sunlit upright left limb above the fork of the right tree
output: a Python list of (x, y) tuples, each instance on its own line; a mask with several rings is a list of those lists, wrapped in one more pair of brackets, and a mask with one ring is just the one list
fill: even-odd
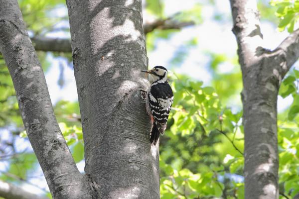
[(256, 0), (230, 0), (233, 16), (233, 32), (238, 42), (241, 66), (251, 66), (256, 61), (262, 45), (259, 12)]

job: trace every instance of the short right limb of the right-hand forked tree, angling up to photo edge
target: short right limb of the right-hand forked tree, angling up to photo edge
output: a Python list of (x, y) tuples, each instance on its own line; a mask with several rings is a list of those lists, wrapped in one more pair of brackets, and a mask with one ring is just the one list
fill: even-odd
[(283, 70), (281, 71), (282, 78), (290, 70), (293, 64), (299, 58), (299, 29), (291, 33), (275, 50), (279, 51), (284, 56)]

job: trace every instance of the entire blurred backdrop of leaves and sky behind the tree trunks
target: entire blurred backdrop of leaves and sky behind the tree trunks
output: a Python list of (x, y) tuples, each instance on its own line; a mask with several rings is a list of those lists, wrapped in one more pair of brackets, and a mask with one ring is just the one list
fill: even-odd
[[(59, 126), (83, 173), (82, 128), (65, 1), (18, 2), (38, 50)], [(264, 47), (273, 50), (296, 29), (294, 13), (299, 7), (293, 0), (257, 3)], [(292, 17), (291, 8), (295, 10)], [(242, 76), (229, 0), (143, 0), (143, 17), (149, 68), (162, 65), (171, 71), (169, 81), (175, 93), (167, 131), (160, 138), (161, 198), (243, 199)], [(298, 70), (295, 64), (278, 100), (281, 198), (299, 192)], [(51, 198), (1, 55), (0, 94), (0, 182)]]

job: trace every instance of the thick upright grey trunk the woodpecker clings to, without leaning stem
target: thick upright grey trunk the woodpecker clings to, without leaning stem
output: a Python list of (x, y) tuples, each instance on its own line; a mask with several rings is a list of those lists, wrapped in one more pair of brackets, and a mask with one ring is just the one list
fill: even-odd
[(147, 68), (141, 0), (67, 0), (85, 173), (103, 199), (158, 199), (158, 145), (140, 90)]

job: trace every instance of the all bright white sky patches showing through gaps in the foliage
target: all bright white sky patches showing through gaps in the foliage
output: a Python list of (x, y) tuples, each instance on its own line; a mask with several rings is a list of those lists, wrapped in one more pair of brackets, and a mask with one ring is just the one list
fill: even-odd
[[(171, 16), (174, 13), (179, 12), (182, 9), (190, 9), (198, 0), (165, 0), (165, 14)], [(57, 15), (64, 16), (67, 14), (66, 7), (57, 8)], [(215, 13), (221, 13), (227, 20), (216, 21), (214, 19)], [(189, 26), (183, 28), (180, 32), (173, 34), (169, 40), (158, 39), (156, 41), (156, 48), (153, 51), (148, 52), (149, 67), (156, 65), (166, 66), (175, 73), (187, 74), (190, 77), (203, 81), (204, 85), (211, 83), (211, 73), (208, 69), (210, 57), (206, 52), (214, 52), (219, 54), (226, 54), (229, 58), (236, 56), (237, 44), (234, 34), (232, 33), (232, 22), (230, 15), (230, 5), (228, 0), (216, 0), (216, 5), (206, 5), (202, 9), (203, 22), (196, 26)], [(149, 22), (153, 20), (150, 15), (144, 12), (144, 21)], [(65, 26), (65, 22), (58, 24)], [(264, 35), (264, 47), (268, 49), (274, 49), (278, 46), (289, 34), (288, 32), (279, 32), (275, 25), (269, 22), (262, 21), (261, 23), (262, 33)], [(70, 37), (70, 34), (64, 32), (52, 32), (48, 33), (48, 37)], [(189, 53), (186, 59), (180, 64), (179, 67), (173, 67), (170, 65), (170, 61), (173, 58), (173, 54), (176, 49), (190, 39), (196, 38), (198, 45), (189, 49)], [(46, 71), (45, 77), (48, 85), (50, 97), (52, 103), (55, 104), (59, 100), (76, 101), (77, 90), (74, 78), (74, 71), (72, 65), (63, 58), (54, 58), (51, 53), (47, 54), (47, 60), (51, 63), (51, 67)], [(61, 88), (57, 85), (59, 79), (60, 69), (63, 68), (64, 86)], [(225, 62), (219, 67), (219, 72), (229, 73), (235, 70), (232, 63)], [(278, 109), (284, 110), (292, 102), (292, 97), (282, 99), (279, 97)], [(5, 132), (2, 134), (5, 135)], [(28, 142), (18, 141), (17, 148), (22, 149), (29, 145)], [(0, 163), (0, 169), (5, 165)], [(84, 171), (84, 162), (77, 164), (81, 172)], [(42, 175), (40, 167), (35, 171), (37, 176)], [(30, 180), (32, 184), (38, 185), (42, 189), (47, 189), (47, 185), (44, 178), (33, 178)], [(23, 184), (22, 187), (32, 193), (43, 194), (44, 192), (36, 187)]]

